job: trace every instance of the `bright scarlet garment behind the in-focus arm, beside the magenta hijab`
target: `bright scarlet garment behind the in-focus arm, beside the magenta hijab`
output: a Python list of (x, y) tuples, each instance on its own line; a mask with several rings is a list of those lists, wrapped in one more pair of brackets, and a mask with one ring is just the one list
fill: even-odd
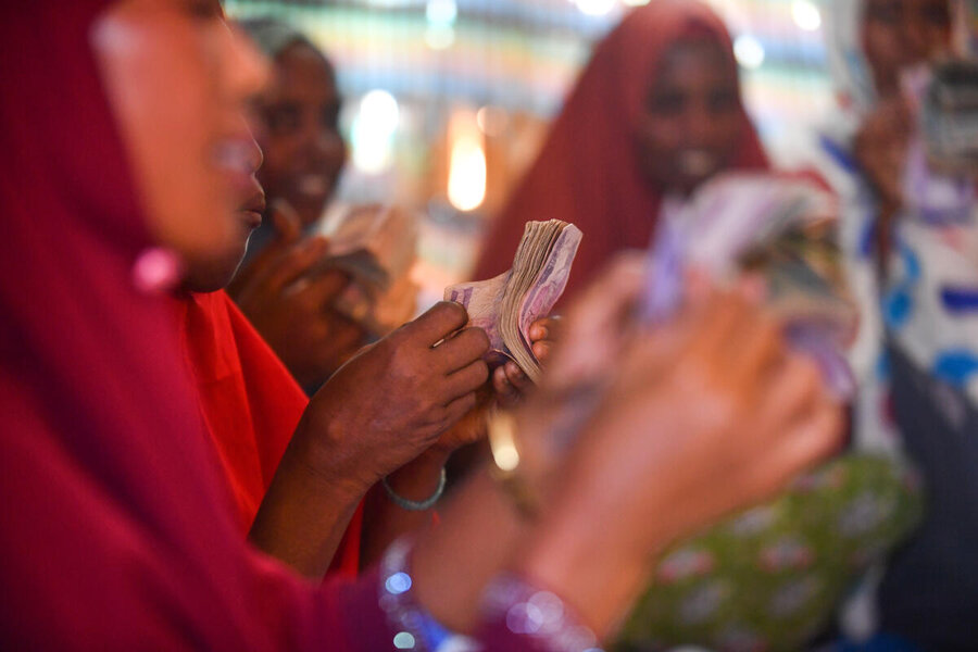
[[(193, 293), (176, 303), (201, 415), (247, 532), (309, 398), (227, 293)], [(361, 505), (331, 572), (356, 576), (362, 519)]]

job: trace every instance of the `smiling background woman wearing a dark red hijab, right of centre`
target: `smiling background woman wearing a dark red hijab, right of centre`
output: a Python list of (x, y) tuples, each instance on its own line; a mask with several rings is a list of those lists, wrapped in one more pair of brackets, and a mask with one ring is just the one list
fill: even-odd
[(585, 235), (569, 297), (614, 252), (649, 246), (665, 198), (723, 170), (766, 167), (723, 22), (695, 0), (655, 0), (598, 45), (474, 278), (510, 267), (526, 222), (564, 220)]

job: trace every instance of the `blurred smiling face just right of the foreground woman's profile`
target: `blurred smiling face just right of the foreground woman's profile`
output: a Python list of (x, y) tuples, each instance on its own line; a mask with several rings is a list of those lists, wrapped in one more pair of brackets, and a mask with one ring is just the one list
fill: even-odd
[(302, 43), (284, 50), (259, 102), (256, 134), (265, 153), (259, 178), (268, 197), (286, 200), (305, 226), (323, 215), (347, 161), (339, 112), (326, 60)]

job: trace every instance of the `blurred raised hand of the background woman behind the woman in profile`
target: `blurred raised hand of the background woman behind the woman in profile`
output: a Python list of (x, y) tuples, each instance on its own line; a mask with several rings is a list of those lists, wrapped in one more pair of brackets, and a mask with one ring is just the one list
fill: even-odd
[(318, 263), (323, 238), (298, 239), (287, 212), (273, 211), (279, 239), (235, 280), (234, 299), (300, 385), (315, 386), (333, 374), (363, 343), (365, 333), (333, 310), (350, 283), (340, 269)]

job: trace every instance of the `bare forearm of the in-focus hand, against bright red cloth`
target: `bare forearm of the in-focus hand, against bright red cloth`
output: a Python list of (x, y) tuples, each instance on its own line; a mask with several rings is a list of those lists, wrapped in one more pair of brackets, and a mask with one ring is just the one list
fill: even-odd
[(286, 451), (249, 539), (300, 574), (322, 578), (365, 491), (318, 469), (300, 439)]

